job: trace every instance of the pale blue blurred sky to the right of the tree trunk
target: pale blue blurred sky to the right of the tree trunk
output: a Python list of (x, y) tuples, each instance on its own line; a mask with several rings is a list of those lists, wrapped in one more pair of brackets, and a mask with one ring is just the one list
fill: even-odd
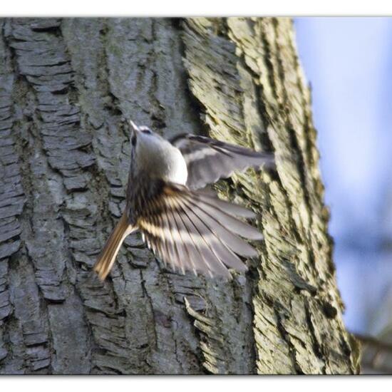
[(294, 19), (311, 85), (329, 231), (351, 331), (372, 317), (392, 286), (392, 18)]

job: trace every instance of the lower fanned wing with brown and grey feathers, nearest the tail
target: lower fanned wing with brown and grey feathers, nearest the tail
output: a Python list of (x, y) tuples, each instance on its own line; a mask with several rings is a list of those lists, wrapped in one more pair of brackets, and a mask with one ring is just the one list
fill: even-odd
[(166, 184), (143, 210), (137, 225), (150, 249), (177, 271), (229, 279), (228, 268), (246, 271), (238, 255), (257, 252), (244, 239), (262, 239), (257, 229), (238, 217), (254, 213), (187, 187)]

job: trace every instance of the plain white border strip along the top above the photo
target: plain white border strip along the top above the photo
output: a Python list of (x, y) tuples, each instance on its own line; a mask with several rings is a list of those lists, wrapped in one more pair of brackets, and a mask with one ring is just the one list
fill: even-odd
[(1, 16), (392, 15), (392, 2), (388, 0), (16, 0), (1, 3)]

